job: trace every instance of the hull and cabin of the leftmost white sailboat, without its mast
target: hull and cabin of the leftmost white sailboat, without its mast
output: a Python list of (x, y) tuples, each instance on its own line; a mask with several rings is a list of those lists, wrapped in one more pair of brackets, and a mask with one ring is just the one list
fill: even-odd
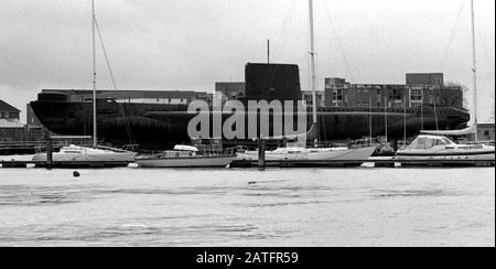
[[(52, 153), (55, 166), (127, 166), (134, 162), (134, 152), (99, 146), (97, 148), (71, 144)], [(32, 161), (46, 162), (46, 152), (34, 154)]]

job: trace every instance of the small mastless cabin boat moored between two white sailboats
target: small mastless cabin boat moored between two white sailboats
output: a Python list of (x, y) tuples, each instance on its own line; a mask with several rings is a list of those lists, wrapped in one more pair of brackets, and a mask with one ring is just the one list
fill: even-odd
[(225, 168), (236, 159), (233, 149), (200, 152), (196, 147), (177, 144), (160, 154), (136, 158), (140, 168)]

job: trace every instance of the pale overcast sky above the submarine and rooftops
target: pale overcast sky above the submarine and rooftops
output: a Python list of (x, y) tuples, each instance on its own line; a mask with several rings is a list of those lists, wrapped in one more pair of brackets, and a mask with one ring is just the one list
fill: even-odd
[[(314, 0), (319, 84), (403, 84), (443, 72), (472, 88), (470, 0)], [(42, 88), (91, 88), (90, 0), (0, 0), (0, 98), (24, 110)], [(495, 96), (495, 1), (475, 0), (478, 114)], [(308, 88), (306, 0), (96, 0), (121, 89), (213, 90), (247, 62), (300, 65)], [(101, 47), (98, 87), (111, 88)], [(24, 119), (23, 119), (24, 120)]]

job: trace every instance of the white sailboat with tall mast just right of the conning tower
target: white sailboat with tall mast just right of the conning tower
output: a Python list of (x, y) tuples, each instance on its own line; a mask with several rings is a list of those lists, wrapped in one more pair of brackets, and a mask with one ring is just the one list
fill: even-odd
[[(313, 0), (309, 0), (309, 21), (310, 21), (310, 58), (311, 58), (311, 87), (312, 87), (312, 119), (313, 125), (311, 130), (303, 136), (314, 134), (317, 132), (319, 127), (317, 119), (317, 98), (316, 98), (316, 62), (315, 62), (315, 37), (313, 28)], [(265, 157), (267, 161), (363, 161), (370, 158), (376, 151), (375, 146), (348, 148), (348, 147), (335, 147), (335, 148), (319, 148), (317, 137), (310, 136), (314, 139), (314, 148), (308, 148), (306, 144), (288, 143), (283, 148), (278, 148), (273, 151), (266, 151)], [(263, 139), (263, 138), (261, 138)], [(274, 139), (274, 138), (266, 138)], [(288, 139), (285, 137), (284, 139)], [(294, 137), (292, 137), (294, 139)], [(238, 153), (238, 160), (255, 161), (258, 160), (258, 151), (245, 151)]]

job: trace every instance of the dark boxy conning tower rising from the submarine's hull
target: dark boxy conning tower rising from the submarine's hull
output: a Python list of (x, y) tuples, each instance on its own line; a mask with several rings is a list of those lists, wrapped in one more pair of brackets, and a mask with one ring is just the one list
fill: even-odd
[(248, 63), (245, 66), (246, 99), (301, 100), (300, 69), (295, 64)]

